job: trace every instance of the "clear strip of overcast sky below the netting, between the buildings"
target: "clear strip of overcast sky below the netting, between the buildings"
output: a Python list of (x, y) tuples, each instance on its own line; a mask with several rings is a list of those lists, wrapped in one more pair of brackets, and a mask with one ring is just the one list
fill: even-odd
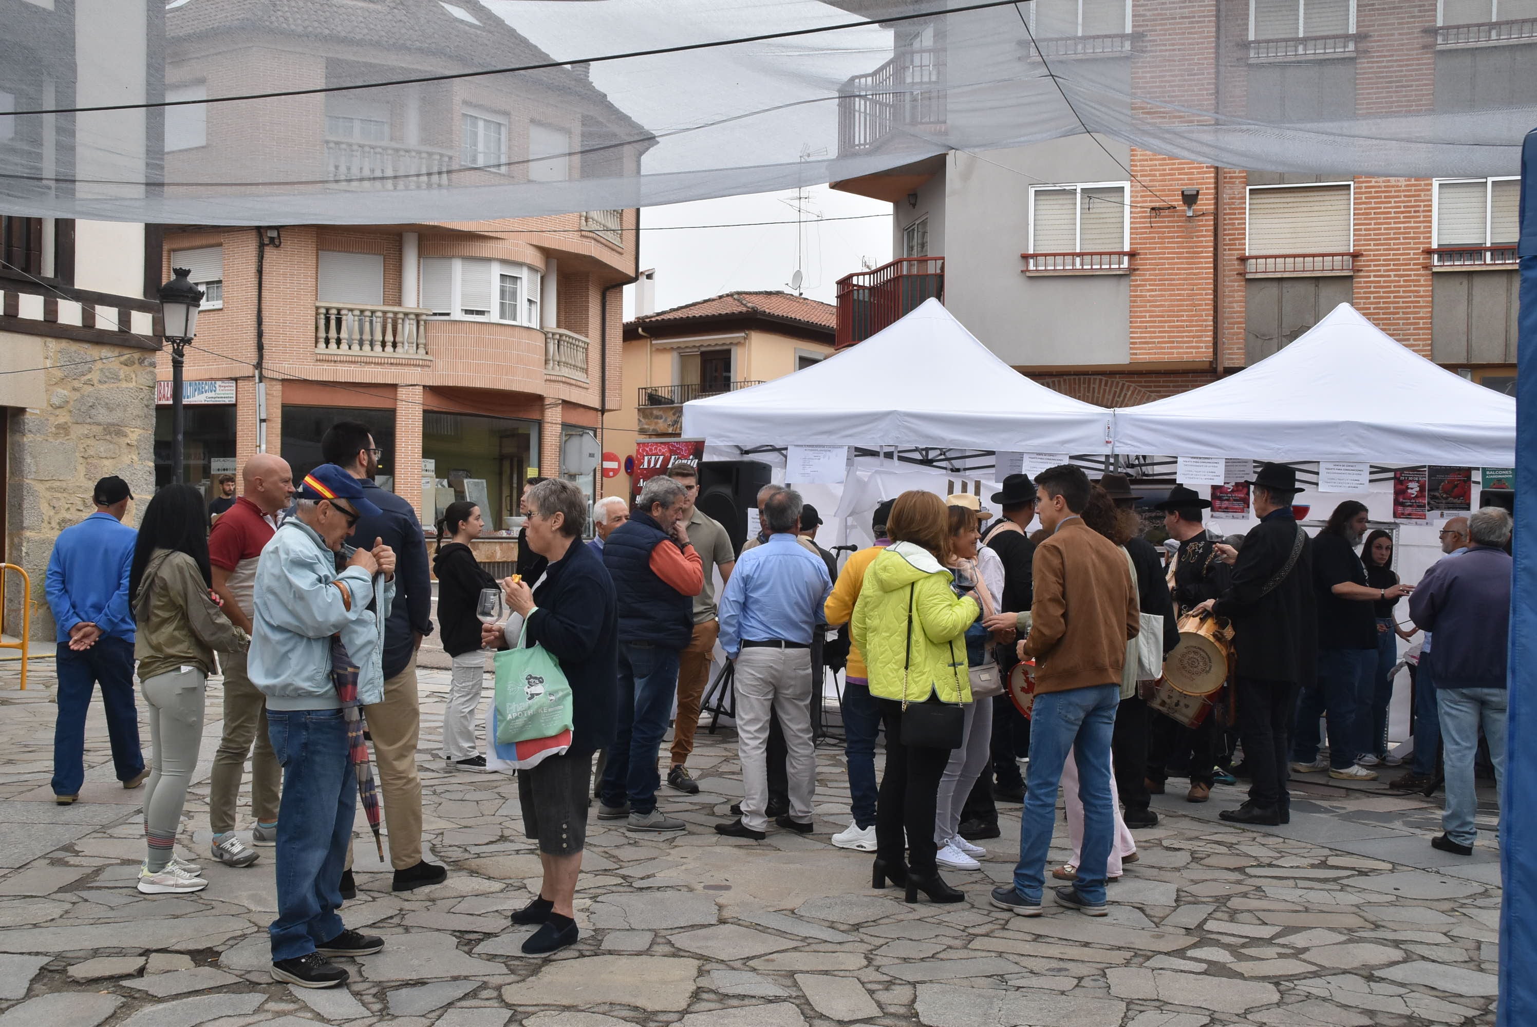
[[(805, 191), (804, 228), (796, 231), (795, 192), (759, 192), (641, 211), (641, 268), (656, 269), (656, 309), (733, 291), (784, 289), (796, 269), (801, 237), (801, 291), (833, 301), (835, 283), (864, 266), (891, 260), (891, 204), (827, 186)], [(876, 217), (868, 217), (876, 215)], [(833, 221), (818, 218), (859, 220)], [(753, 228), (678, 228), (735, 224)], [(790, 224), (762, 224), (792, 221)], [(635, 312), (635, 287), (624, 291), (624, 315)]]

